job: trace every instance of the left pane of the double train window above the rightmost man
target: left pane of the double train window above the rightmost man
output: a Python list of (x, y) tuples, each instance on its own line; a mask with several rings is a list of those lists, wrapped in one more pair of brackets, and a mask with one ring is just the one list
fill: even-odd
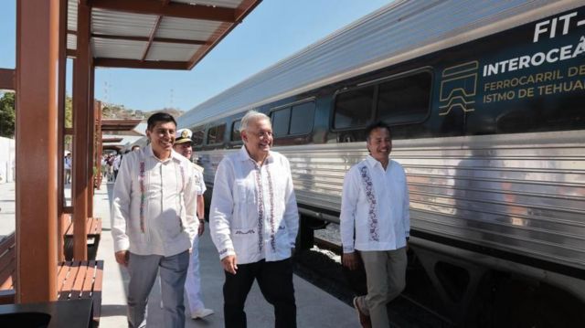
[(364, 126), (372, 117), (375, 86), (348, 90), (335, 98), (335, 129)]

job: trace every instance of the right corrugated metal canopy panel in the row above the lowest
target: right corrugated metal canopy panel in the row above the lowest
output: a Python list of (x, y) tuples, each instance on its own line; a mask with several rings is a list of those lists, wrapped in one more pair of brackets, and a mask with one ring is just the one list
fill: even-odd
[(207, 40), (221, 22), (207, 20), (164, 17), (156, 31), (156, 37), (186, 38), (188, 40)]

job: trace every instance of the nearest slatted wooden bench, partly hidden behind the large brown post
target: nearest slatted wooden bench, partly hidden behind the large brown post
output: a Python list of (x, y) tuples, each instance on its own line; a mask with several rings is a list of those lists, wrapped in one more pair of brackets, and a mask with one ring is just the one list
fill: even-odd
[[(100, 323), (103, 260), (74, 260), (58, 263), (57, 299), (91, 299), (93, 325)], [(0, 304), (15, 302), (16, 238), (13, 233), (0, 240)]]

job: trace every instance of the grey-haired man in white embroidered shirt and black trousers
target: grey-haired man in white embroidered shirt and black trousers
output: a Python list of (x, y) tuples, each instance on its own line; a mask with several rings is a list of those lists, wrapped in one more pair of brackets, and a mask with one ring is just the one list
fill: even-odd
[(211, 238), (225, 270), (225, 325), (246, 327), (244, 303), (254, 280), (274, 306), (275, 327), (296, 327), (292, 249), (299, 227), (291, 169), (271, 152), (270, 118), (249, 111), (244, 145), (218, 165), (209, 214)]

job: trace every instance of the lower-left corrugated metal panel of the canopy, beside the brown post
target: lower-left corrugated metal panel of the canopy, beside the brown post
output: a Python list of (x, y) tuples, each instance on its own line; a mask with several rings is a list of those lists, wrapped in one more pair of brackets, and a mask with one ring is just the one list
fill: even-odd
[(142, 59), (147, 44), (143, 41), (94, 37), (91, 47), (95, 58)]

